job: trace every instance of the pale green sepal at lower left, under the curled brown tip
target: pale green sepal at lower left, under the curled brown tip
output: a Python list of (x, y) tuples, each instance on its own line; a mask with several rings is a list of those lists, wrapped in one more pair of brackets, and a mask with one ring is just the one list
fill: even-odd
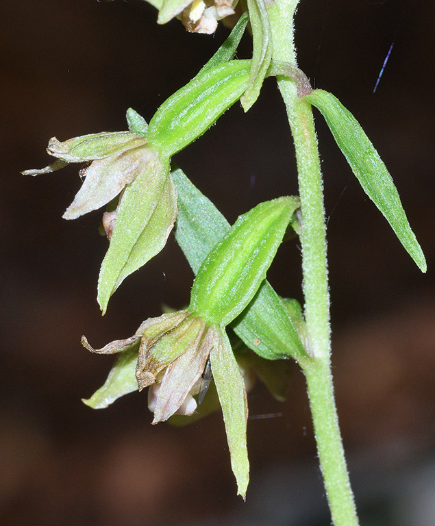
[(116, 399), (138, 390), (136, 381), (136, 362), (138, 361), (138, 340), (132, 347), (116, 356), (104, 385), (92, 397), (82, 399), (92, 409), (107, 408)]

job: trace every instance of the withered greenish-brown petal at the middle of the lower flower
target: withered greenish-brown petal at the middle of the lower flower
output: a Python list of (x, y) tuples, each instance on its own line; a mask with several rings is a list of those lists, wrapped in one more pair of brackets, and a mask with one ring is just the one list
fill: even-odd
[[(189, 312), (163, 314), (166, 316), (162, 321), (162, 326), (166, 327), (163, 336), (158, 334), (161, 325), (153, 326), (150, 331), (145, 331), (136, 368), (139, 390), (153, 384), (158, 373), (176, 360), (179, 355), (182, 355), (190, 342), (195, 340), (199, 331), (202, 332), (204, 322), (189, 314)], [(180, 319), (182, 316), (184, 319)], [(148, 339), (150, 336), (153, 340)]]

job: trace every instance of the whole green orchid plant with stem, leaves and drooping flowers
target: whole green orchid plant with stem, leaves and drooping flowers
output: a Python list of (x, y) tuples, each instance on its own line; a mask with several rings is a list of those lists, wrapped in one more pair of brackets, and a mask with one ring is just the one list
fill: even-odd
[[(84, 179), (64, 218), (105, 207), (109, 240), (98, 281), (100, 308), (122, 281), (175, 238), (195, 273), (189, 305), (148, 318), (135, 334), (102, 349), (116, 354), (105, 384), (84, 400), (105, 408), (119, 397), (148, 388), (153, 424), (185, 422), (221, 407), (238, 494), (249, 482), (247, 390), (256, 371), (284, 399), (288, 364), (306, 376), (319, 460), (336, 526), (355, 526), (358, 517), (349, 483), (334, 403), (330, 366), (330, 317), (323, 186), (312, 106), (321, 112), (366, 195), (390, 223), (414, 262), (425, 258), (401, 205), (393, 179), (356, 118), (334, 97), (312, 90), (297, 67), (293, 18), (299, 0), (148, 0), (158, 23), (179, 18), (190, 32), (211, 34), (219, 20), (231, 34), (201, 71), (164, 101), (149, 124), (131, 108), (128, 130), (49, 141), (55, 158), (39, 175), (82, 163)], [(251, 60), (234, 60), (249, 23)], [(175, 153), (203, 135), (240, 100), (256, 102), (265, 77), (282, 93), (295, 145), (299, 196), (259, 203), (229, 225), (213, 203), (171, 162)], [(266, 272), (286, 231), (302, 249), (303, 309), (279, 297)], [(228, 331), (228, 329), (230, 329)], [(260, 359), (249, 360), (252, 353)]]

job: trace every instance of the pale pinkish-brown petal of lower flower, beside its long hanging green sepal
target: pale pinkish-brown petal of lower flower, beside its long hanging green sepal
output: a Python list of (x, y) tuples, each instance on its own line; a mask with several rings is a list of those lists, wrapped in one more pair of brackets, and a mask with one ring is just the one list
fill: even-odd
[[(199, 318), (196, 318), (201, 322)], [(190, 342), (184, 342), (184, 353), (166, 369), (154, 410), (153, 424), (163, 422), (175, 414), (186, 400), (190, 390), (201, 377), (213, 345), (212, 330), (199, 325)], [(206, 331), (206, 334), (204, 334)]]

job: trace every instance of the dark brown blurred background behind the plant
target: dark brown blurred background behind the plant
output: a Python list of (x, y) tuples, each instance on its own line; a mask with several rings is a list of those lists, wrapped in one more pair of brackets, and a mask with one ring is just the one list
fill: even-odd
[[(162, 303), (188, 303), (192, 273), (173, 238), (129, 277), (101, 318), (96, 301), (107, 240), (101, 214), (67, 222), (77, 167), (40, 177), (60, 140), (147, 120), (228, 34), (156, 24), (141, 0), (3, 0), (0, 5), (1, 369), (0, 510), (4, 524), (325, 526), (303, 375), (286, 403), (249, 395), (251, 484), (236, 497), (221, 415), (149, 425), (146, 395), (106, 410), (89, 397), (112, 358), (92, 345), (125, 338)], [(364, 195), (316, 114), (325, 178), (336, 397), (362, 525), (427, 526), (435, 515), (434, 3), (303, 0), (299, 64), (360, 120), (401, 194), (427, 257), (422, 275)], [(390, 59), (373, 93), (390, 46)], [(245, 36), (239, 57), (247, 58)], [(176, 156), (234, 221), (260, 201), (297, 192), (282, 101), (268, 79)], [(297, 241), (269, 272), (301, 301)], [(278, 414), (274, 418), (258, 418)], [(280, 415), (280, 416), (279, 416)], [(257, 417), (257, 418), (255, 418)]]

